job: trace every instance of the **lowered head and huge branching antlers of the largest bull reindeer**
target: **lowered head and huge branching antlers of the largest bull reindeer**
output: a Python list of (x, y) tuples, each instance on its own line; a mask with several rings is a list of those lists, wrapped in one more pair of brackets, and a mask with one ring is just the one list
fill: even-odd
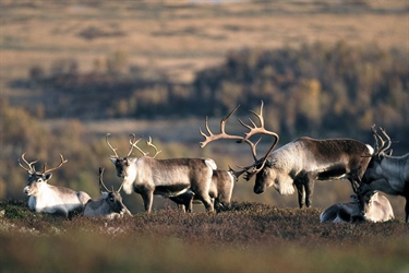
[[(263, 105), (264, 104), (262, 102), (262, 105), (260, 107), (260, 114), (251, 111), (258, 119), (260, 127), (257, 127), (255, 124), (255, 122), (250, 118), (249, 118), (249, 120), (252, 123), (252, 126), (249, 126), (249, 124), (244, 123), (243, 121), (241, 121), (239, 119), (239, 122), (243, 127), (245, 127), (246, 129), (250, 130), (249, 132), (244, 133), (244, 136), (227, 134), (226, 131), (225, 131), (227, 120), (231, 117), (231, 115), (233, 115), (236, 112), (236, 110), (239, 108), (239, 106), (237, 106), (224, 119), (221, 119), (221, 121), (220, 121), (220, 133), (219, 134), (213, 134), (212, 133), (210, 129), (208, 128), (207, 117), (206, 117), (206, 121), (205, 121), (205, 127), (206, 127), (208, 135), (206, 135), (204, 132), (202, 132), (202, 130), (200, 130), (200, 133), (205, 138), (205, 141), (201, 142), (201, 147), (204, 147), (207, 143), (209, 143), (212, 141), (215, 141), (215, 140), (219, 140), (219, 139), (236, 140), (238, 143), (245, 142), (245, 143), (249, 144), (249, 146), (251, 147), (252, 155), (253, 155), (254, 164), (252, 164), (250, 166), (246, 166), (246, 167), (240, 167), (241, 168), (240, 171), (234, 171), (230, 168), (230, 171), (232, 171), (232, 174), (237, 178), (245, 173), (246, 175), (245, 175), (244, 179), (248, 180), (248, 181), (254, 175), (256, 175), (255, 185), (254, 185), (254, 192), (257, 193), (257, 194), (264, 192), (264, 190), (266, 188), (268, 188), (269, 186), (272, 186), (274, 183), (274, 181), (276, 180), (276, 171), (273, 168), (274, 161), (272, 161), (269, 158), (269, 154), (273, 152), (273, 150), (275, 149), (275, 146), (277, 145), (278, 140), (279, 140), (279, 136), (278, 136), (277, 133), (268, 131), (264, 128)], [(267, 151), (267, 153), (260, 159), (257, 159), (257, 156), (256, 156), (256, 145), (261, 141), (261, 138), (255, 143), (250, 141), (250, 138), (255, 135), (255, 134), (266, 134), (266, 135), (275, 138), (275, 141), (272, 144), (272, 146), (269, 147), (269, 150)]]

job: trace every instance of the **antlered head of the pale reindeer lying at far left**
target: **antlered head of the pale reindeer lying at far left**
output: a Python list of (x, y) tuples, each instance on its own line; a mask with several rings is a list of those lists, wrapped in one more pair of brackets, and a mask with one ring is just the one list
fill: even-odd
[(36, 194), (38, 194), (38, 192), (41, 190), (41, 188), (43, 188), (45, 185), (47, 185), (47, 181), (51, 178), (51, 176), (52, 176), (51, 171), (58, 169), (59, 167), (62, 166), (62, 164), (64, 164), (64, 163), (68, 162), (68, 161), (64, 159), (64, 158), (62, 157), (62, 155), (60, 154), (61, 162), (60, 162), (60, 164), (59, 164), (57, 167), (53, 167), (53, 168), (50, 168), (50, 169), (46, 169), (46, 164), (44, 164), (44, 166), (43, 166), (43, 171), (37, 171), (37, 170), (35, 169), (34, 164), (36, 164), (36, 163), (38, 162), (38, 159), (28, 163), (28, 162), (25, 159), (24, 156), (25, 156), (25, 153), (22, 154), (22, 159), (23, 159), (23, 162), (27, 165), (27, 167), (24, 167), (24, 166), (22, 165), (22, 163), (20, 162), (20, 159), (19, 159), (19, 165), (20, 165), (23, 169), (27, 170), (27, 173), (28, 173), (28, 183), (27, 183), (27, 186), (24, 187), (24, 189), (23, 189), (23, 192), (24, 192), (25, 194), (27, 194), (27, 195), (36, 195)]

